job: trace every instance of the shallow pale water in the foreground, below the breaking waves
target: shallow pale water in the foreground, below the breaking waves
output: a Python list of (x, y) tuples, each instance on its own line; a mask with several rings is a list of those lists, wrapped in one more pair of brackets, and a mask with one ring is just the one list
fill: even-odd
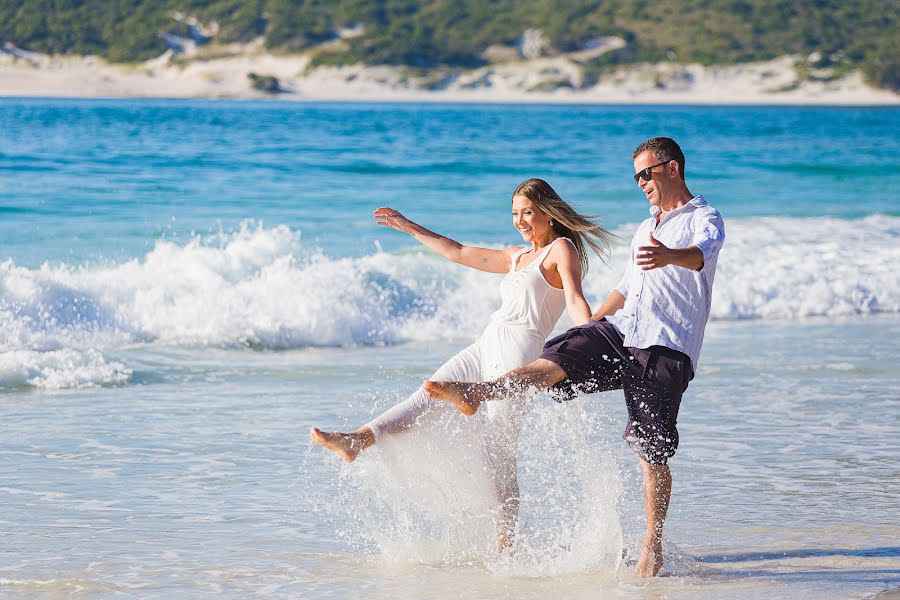
[[(348, 481), (361, 480), (347, 473), (377, 474), (385, 457), (340, 463), (309, 445), (306, 428), (360, 422), (455, 347), (406, 344), (377, 353), (182, 351), (174, 367), (144, 357), (162, 373), (152, 384), (0, 396), (0, 589), (101, 597), (538, 598), (602, 590), (617, 598), (847, 598), (900, 587), (898, 367), (885, 358), (900, 321), (838, 324), (840, 340), (826, 320), (711, 326), (704, 366), (682, 407), (669, 578), (634, 580), (628, 558), (618, 568), (565, 573), (567, 565), (549, 556), (543, 566), (551, 574), (534, 577), (540, 557), (507, 564), (436, 557), (397, 531), (395, 544), (407, 545), (386, 555), (379, 543), (391, 514), (362, 523), (347, 515), (335, 525), (323, 508), (372, 506), (371, 490), (379, 489), (376, 479), (368, 492), (355, 490)], [(642, 515), (635, 461), (618, 437), (621, 396), (577, 404), (537, 406), (541, 432), (554, 420), (572, 426), (569, 413), (588, 416), (556, 431), (549, 447), (566, 449), (587, 434), (608, 452), (606, 476), (620, 479), (623, 492), (604, 510), (615, 511), (626, 556), (634, 556)], [(549, 460), (530, 454), (539, 450), (527, 445), (522, 464)], [(389, 495), (395, 490), (381, 489), (383, 500), (399, 501)], [(546, 506), (525, 491), (527, 529)], [(577, 518), (563, 515), (560, 527)]]

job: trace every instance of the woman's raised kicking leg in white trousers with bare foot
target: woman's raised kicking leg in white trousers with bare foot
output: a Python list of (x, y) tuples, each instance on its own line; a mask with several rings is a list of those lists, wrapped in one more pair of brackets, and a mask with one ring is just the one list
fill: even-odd
[[(480, 381), (480, 354), (472, 344), (455, 354), (435, 371), (432, 378), (453, 378), (458, 381)], [(377, 444), (385, 435), (395, 435), (414, 426), (423, 414), (443, 402), (428, 396), (421, 386), (409, 398), (395, 404), (352, 433), (326, 432), (313, 427), (310, 435), (319, 445), (331, 450), (347, 462), (353, 462), (359, 453)]]

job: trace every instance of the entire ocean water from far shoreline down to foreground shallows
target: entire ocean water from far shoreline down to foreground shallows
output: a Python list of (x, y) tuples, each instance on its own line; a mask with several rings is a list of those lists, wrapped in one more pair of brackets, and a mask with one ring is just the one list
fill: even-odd
[[(535, 399), (511, 555), (459, 460), (477, 420), (350, 465), (310, 445), (404, 398), (499, 302), (375, 208), (512, 245), (510, 193), (543, 177), (621, 238), (592, 261), (596, 305), (647, 215), (630, 152), (658, 134), (727, 231), (670, 577), (630, 574), (620, 393)], [(0, 100), (0, 596), (897, 590), (898, 134), (890, 108)]]

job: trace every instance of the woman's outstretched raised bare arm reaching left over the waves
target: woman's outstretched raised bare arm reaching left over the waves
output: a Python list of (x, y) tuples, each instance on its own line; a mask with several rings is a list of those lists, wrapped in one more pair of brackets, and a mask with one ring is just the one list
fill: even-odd
[(393, 208), (381, 207), (375, 211), (375, 222), (416, 238), (423, 246), (437, 252), (447, 260), (455, 263), (487, 271), (489, 273), (506, 273), (509, 271), (510, 257), (516, 249), (492, 250), (463, 246), (455, 240), (425, 229), (418, 223), (410, 221)]

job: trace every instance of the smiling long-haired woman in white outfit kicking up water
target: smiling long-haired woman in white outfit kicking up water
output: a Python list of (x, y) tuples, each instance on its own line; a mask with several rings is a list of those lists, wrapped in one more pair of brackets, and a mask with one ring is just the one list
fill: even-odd
[[(587, 271), (586, 247), (603, 255), (610, 234), (589, 217), (578, 214), (541, 179), (529, 179), (512, 195), (513, 226), (526, 246), (491, 250), (463, 246), (413, 223), (396, 210), (379, 208), (375, 219), (413, 236), (429, 249), (455, 263), (505, 274), (500, 284), (502, 305), (491, 315), (481, 337), (448, 360), (434, 380), (486, 381), (530, 363), (541, 354), (544, 340), (567, 309), (575, 325), (587, 323), (591, 309), (581, 290)], [(560, 239), (565, 240), (557, 243)], [(405, 401), (352, 433), (326, 432), (313, 427), (313, 440), (346, 461), (415, 425), (419, 416), (441, 403), (420, 387)], [(516, 443), (523, 414), (510, 401), (487, 405), (495, 435), (489, 436), (487, 458), (494, 469), (500, 505), (498, 547), (510, 542), (519, 508), (516, 480)], [(438, 410), (441, 410), (438, 408)]]

